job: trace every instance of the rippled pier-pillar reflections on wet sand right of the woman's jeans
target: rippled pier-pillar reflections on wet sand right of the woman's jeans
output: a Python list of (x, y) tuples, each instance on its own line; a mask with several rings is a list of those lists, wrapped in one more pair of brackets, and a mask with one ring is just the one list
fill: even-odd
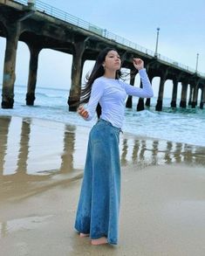
[[(132, 157), (128, 156), (132, 149)], [(152, 139), (122, 139), (121, 163), (133, 163), (138, 167), (163, 163), (185, 163), (205, 165), (205, 148), (179, 142), (156, 141)]]

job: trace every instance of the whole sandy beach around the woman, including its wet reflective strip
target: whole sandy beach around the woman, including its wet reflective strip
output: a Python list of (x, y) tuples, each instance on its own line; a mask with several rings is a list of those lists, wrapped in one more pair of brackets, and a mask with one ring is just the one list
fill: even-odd
[(205, 255), (205, 149), (120, 138), (120, 242), (73, 229), (89, 128), (0, 118), (0, 255)]

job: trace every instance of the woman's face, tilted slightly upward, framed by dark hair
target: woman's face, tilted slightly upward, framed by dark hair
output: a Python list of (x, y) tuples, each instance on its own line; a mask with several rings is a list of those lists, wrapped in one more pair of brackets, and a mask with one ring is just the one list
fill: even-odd
[(116, 51), (109, 51), (106, 54), (106, 59), (103, 63), (106, 70), (117, 71), (121, 67), (120, 55)]

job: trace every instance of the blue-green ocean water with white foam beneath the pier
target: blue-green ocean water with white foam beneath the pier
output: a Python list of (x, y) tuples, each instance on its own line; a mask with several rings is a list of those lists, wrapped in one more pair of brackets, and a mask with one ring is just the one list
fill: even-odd
[[(0, 115), (30, 116), (85, 127), (92, 127), (97, 120), (84, 121), (79, 114), (68, 111), (69, 90), (37, 87), (33, 107), (25, 105), (25, 94), (25, 86), (15, 86), (13, 109), (0, 108)], [(149, 109), (136, 112), (137, 100), (133, 98), (132, 109), (126, 108), (123, 132), (140, 137), (205, 146), (205, 109), (199, 107), (172, 109), (171, 99), (164, 99), (163, 111), (157, 112), (155, 111), (157, 99), (153, 98)]]

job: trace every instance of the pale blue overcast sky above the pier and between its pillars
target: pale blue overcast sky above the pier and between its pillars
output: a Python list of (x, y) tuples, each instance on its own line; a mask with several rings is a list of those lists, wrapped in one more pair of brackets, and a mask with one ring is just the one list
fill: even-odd
[[(185, 0), (44, 0), (102, 29), (133, 43), (155, 50), (156, 29), (160, 27), (158, 52), (169, 59), (205, 73), (205, 1)], [(3, 77), (5, 39), (0, 38), (0, 83)], [(57, 65), (58, 64), (58, 65)], [(23, 43), (17, 49), (16, 84), (26, 85), (29, 51)], [(37, 86), (69, 88), (72, 56), (43, 50), (39, 55)], [(91, 64), (86, 62), (84, 73)], [(155, 82), (154, 90), (158, 90)], [(168, 93), (169, 89), (165, 89)]]

